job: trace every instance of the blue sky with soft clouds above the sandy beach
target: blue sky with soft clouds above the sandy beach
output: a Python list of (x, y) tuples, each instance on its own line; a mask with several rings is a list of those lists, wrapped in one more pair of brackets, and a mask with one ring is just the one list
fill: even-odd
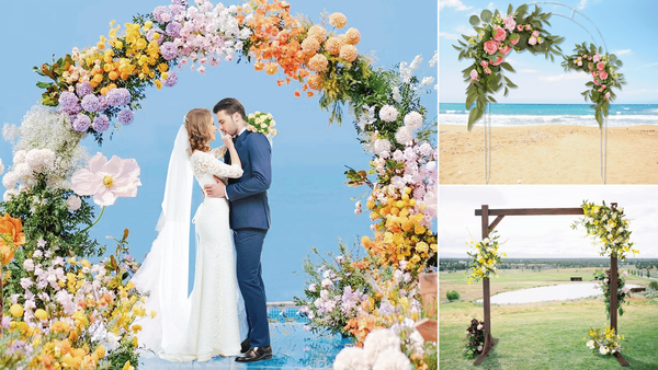
[[(468, 19), (479, 14), (484, 9), (498, 9), (507, 14), (508, 5), (514, 9), (523, 1), (490, 0), (439, 0), (439, 61), (440, 61), (440, 102), (464, 103), (466, 83), (463, 82), (462, 70), (472, 65), (473, 59), (457, 59), (458, 53), (451, 45), (457, 44), (462, 34), (475, 34)], [(655, 0), (563, 0), (565, 5), (546, 4), (537, 1), (543, 12), (553, 12), (548, 19), (552, 24), (547, 31), (553, 35), (565, 36), (559, 44), (563, 53), (571, 55), (576, 44), (594, 42), (609, 53), (615, 54), (624, 63), (620, 72), (628, 82), (617, 93), (615, 103), (658, 103), (658, 51), (647, 42), (654, 33), (655, 14), (658, 2)], [(534, 7), (532, 7), (534, 10)], [(574, 10), (575, 11), (574, 11)], [(577, 11), (577, 12), (576, 12)], [(580, 13), (578, 13), (580, 12)], [(572, 20), (565, 16), (571, 16)], [(589, 19), (589, 20), (588, 20)], [(585, 26), (581, 27), (576, 22)], [(599, 37), (594, 27), (601, 33)], [(594, 35), (594, 39), (588, 34)], [(583, 104), (580, 92), (586, 90), (585, 83), (590, 80), (582, 72), (565, 72), (560, 67), (561, 58), (554, 62), (543, 55), (529, 51), (512, 51), (506, 58), (515, 69), (515, 73), (506, 76), (519, 88), (510, 89), (508, 96), (494, 95), (499, 103), (546, 103), (546, 104)], [(615, 90), (616, 92), (616, 90)]]

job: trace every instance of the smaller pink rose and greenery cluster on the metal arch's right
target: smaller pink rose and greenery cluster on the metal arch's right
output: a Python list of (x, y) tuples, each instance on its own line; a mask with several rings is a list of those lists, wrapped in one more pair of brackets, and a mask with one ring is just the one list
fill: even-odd
[(576, 54), (564, 56), (561, 66), (565, 71), (576, 70), (592, 76), (592, 81), (586, 83), (590, 90), (583, 91), (581, 95), (585, 96), (585, 101), (593, 103), (590, 107), (594, 108), (594, 116), (601, 127), (603, 117), (608, 116), (610, 103), (616, 97), (612, 88), (622, 89), (622, 84), (626, 84), (624, 76), (617, 72), (622, 61), (614, 54), (601, 55), (601, 47), (597, 50), (593, 44), (590, 44), (589, 48), (585, 43), (576, 45), (574, 51)]

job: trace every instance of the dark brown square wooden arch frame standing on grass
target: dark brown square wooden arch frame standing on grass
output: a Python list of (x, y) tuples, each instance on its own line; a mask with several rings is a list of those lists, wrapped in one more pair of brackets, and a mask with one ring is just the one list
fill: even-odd
[[(617, 204), (611, 204), (616, 208)], [(517, 208), (517, 209), (489, 209), (489, 206), (483, 205), (480, 209), (475, 210), (475, 216), (481, 217), (483, 240), (489, 238), (489, 233), (502, 221), (506, 216), (547, 216), (547, 215), (585, 215), (582, 208)], [(489, 216), (496, 216), (494, 222), (489, 224)], [(610, 257), (610, 327), (616, 334), (617, 329), (617, 258)], [(473, 365), (480, 365), (489, 355), (489, 351), (497, 338), (491, 335), (491, 300), (489, 290), (489, 279), (483, 278), (483, 303), (485, 307), (485, 346), (483, 352), (475, 359)], [(614, 354), (621, 366), (627, 367), (628, 362), (620, 352)]]

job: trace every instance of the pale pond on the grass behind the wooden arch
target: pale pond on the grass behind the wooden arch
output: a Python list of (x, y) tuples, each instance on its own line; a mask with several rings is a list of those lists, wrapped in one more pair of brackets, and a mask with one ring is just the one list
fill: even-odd
[[(626, 285), (627, 288), (636, 288), (635, 285)], [(599, 296), (603, 292), (593, 282), (561, 284), (551, 287), (537, 287), (506, 291), (491, 297), (492, 304), (533, 303), (543, 301), (564, 301), (569, 299)], [(481, 302), (483, 300), (477, 300)]]

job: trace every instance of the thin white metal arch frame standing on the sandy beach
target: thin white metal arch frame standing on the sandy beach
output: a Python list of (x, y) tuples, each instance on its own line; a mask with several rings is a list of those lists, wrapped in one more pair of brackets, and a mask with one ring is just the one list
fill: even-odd
[[(589, 23), (591, 23), (592, 27), (594, 27), (597, 34), (600, 37), (600, 42), (603, 46), (603, 50), (605, 54), (608, 54), (608, 46), (605, 45), (605, 41), (603, 39), (603, 36), (601, 35), (601, 32), (599, 31), (599, 28), (597, 27), (594, 22), (592, 22), (589, 18), (587, 18), (587, 15), (582, 14), (578, 10), (576, 10), (565, 3), (557, 2), (557, 1), (533, 1), (533, 2), (527, 2), (527, 4), (529, 5), (530, 4), (552, 4), (552, 5), (560, 5), (560, 7), (568, 8), (571, 11), (570, 15), (566, 15), (563, 13), (555, 13), (555, 12), (551, 12), (551, 14), (566, 18), (566, 19), (570, 20), (571, 22), (581, 26), (582, 30), (585, 30), (585, 32), (587, 32), (588, 35), (590, 35), (592, 43), (598, 48), (599, 43), (597, 43), (597, 38), (592, 35), (592, 33), (582, 23), (578, 22), (575, 19), (576, 15), (581, 15), (585, 20), (587, 20)], [(599, 131), (600, 131), (599, 154), (601, 158), (600, 175), (601, 175), (601, 182), (603, 184), (605, 184), (605, 175), (606, 175), (606, 170), (608, 170), (608, 117), (606, 116), (603, 116), (603, 124), (601, 125), (601, 128), (599, 129)], [(485, 184), (489, 184), (489, 177), (491, 175), (491, 103), (487, 103), (487, 111), (486, 111), (483, 132), (484, 132), (484, 154), (485, 154)]]

